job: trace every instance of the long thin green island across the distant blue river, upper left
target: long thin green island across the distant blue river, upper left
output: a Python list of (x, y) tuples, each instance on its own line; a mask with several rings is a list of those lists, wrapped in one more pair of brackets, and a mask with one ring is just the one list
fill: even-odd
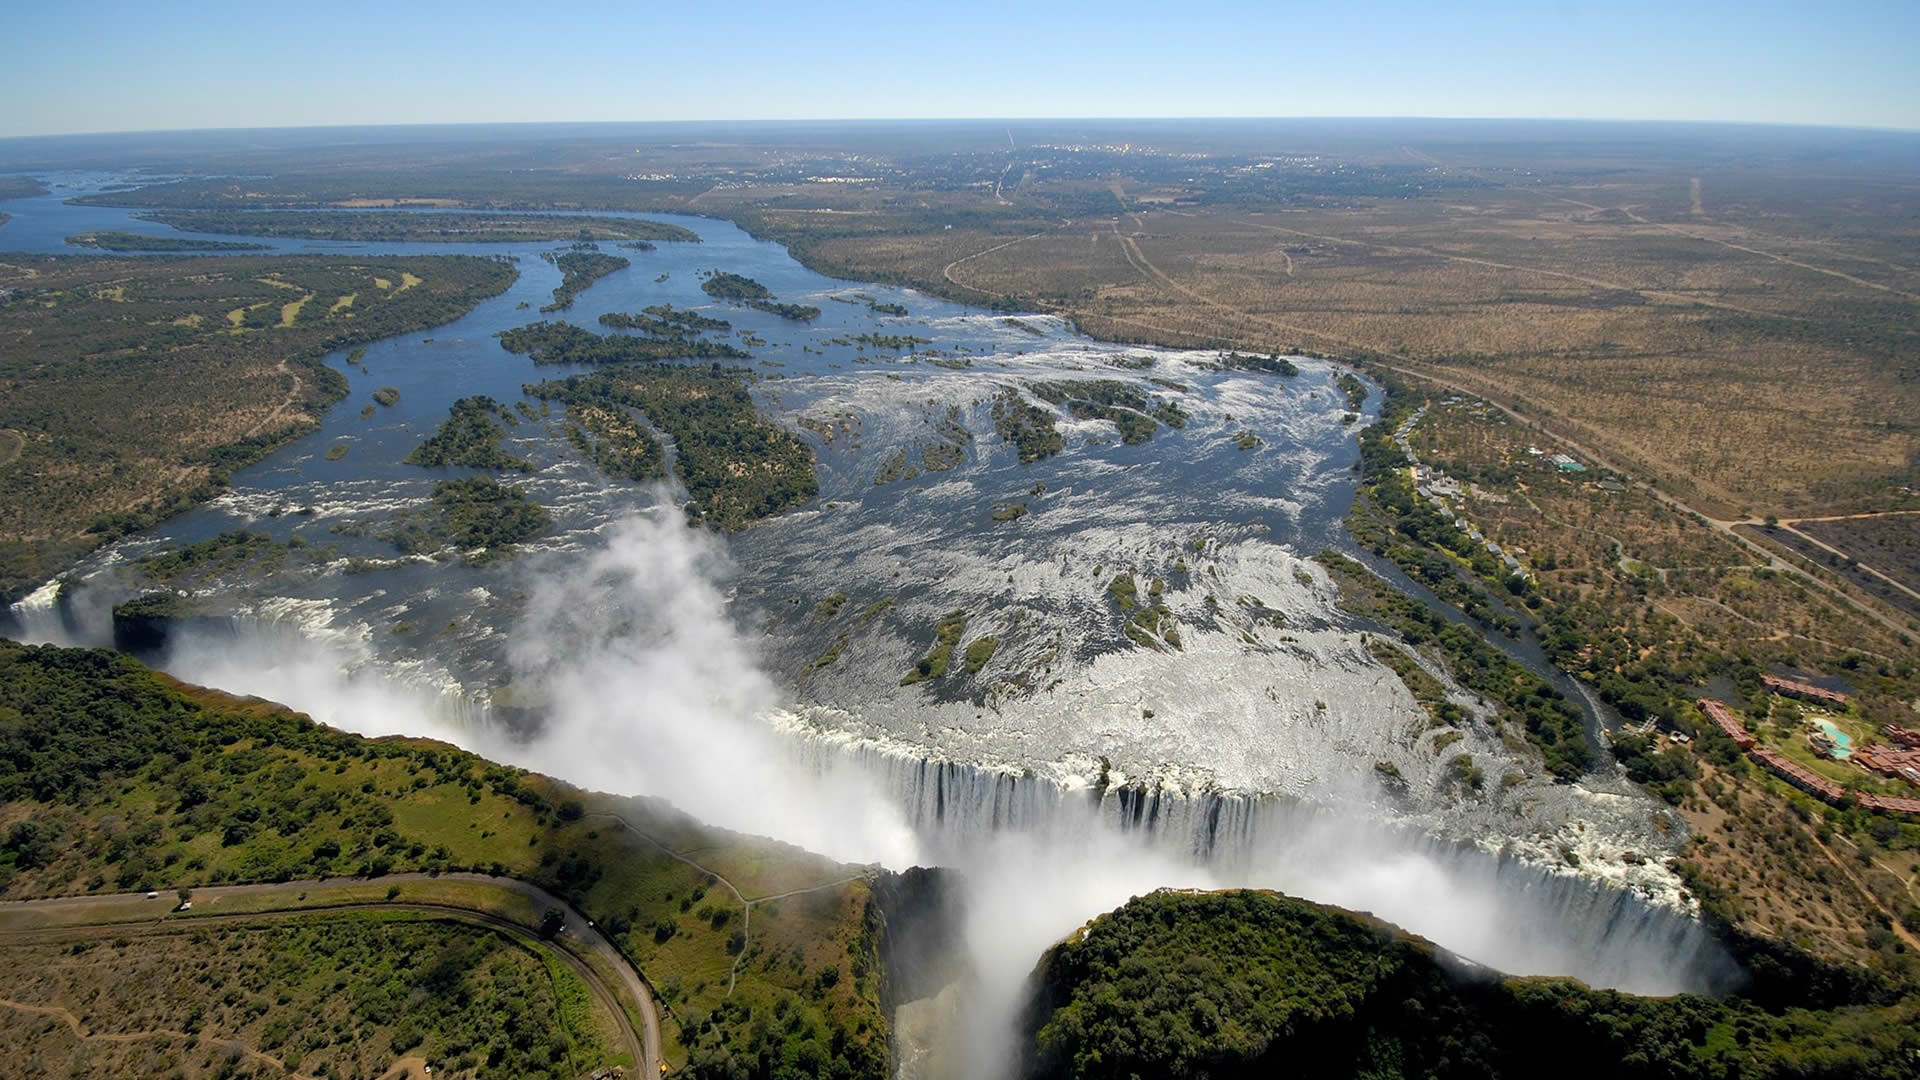
[[(361, 244), (538, 244), (545, 240), (699, 242), (678, 225), (634, 217), (545, 213), (413, 213), (405, 209), (169, 209), (142, 213), (182, 233), (353, 240)], [(651, 248), (643, 248), (651, 250)]]

